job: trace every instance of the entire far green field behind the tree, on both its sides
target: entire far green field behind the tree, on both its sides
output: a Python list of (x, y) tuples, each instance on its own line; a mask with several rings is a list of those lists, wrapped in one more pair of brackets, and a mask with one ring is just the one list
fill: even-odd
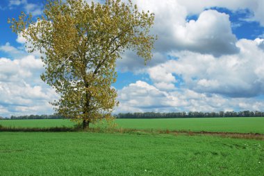
[[(264, 134), (264, 118), (157, 118), (116, 119), (117, 127), (153, 130), (190, 130), (207, 132), (242, 132)], [(7, 127), (61, 127), (73, 126), (69, 120), (7, 120), (0, 121)]]

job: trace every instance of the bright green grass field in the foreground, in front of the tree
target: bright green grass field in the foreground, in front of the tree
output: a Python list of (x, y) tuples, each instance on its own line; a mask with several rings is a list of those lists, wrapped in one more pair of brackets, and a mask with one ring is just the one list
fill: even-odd
[(172, 134), (0, 132), (0, 175), (263, 175), (264, 141)]

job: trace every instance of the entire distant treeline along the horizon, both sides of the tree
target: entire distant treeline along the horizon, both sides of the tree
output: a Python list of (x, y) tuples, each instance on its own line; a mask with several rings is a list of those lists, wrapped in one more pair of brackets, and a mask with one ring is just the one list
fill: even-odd
[[(135, 113), (119, 113), (114, 115), (116, 118), (195, 118), (195, 117), (260, 117), (264, 116), (264, 112), (135, 112)], [(29, 116), (11, 116), (10, 118), (1, 119), (59, 119), (64, 118), (59, 114), (52, 115), (29, 115)]]

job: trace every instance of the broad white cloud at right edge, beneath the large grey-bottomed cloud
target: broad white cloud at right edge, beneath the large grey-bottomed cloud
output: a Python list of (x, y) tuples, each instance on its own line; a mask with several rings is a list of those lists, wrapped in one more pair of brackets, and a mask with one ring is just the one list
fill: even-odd
[[(172, 53), (178, 60), (168, 60), (148, 70), (156, 83), (173, 83), (174, 75), (183, 79), (184, 87), (201, 93), (231, 97), (264, 94), (264, 51), (262, 39), (240, 39), (234, 55), (204, 55), (190, 51)], [(164, 79), (162, 79), (164, 78)]]

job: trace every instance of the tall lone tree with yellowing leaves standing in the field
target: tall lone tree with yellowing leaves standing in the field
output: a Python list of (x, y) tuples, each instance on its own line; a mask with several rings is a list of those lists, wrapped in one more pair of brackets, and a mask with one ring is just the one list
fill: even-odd
[(150, 60), (156, 37), (149, 34), (154, 14), (139, 11), (132, 1), (48, 1), (42, 17), (21, 13), (9, 19), (13, 32), (26, 38), (28, 52), (42, 53), (45, 72), (41, 78), (60, 98), (56, 112), (73, 121), (89, 123), (110, 118), (118, 105), (111, 87), (117, 73), (115, 62), (125, 50)]

